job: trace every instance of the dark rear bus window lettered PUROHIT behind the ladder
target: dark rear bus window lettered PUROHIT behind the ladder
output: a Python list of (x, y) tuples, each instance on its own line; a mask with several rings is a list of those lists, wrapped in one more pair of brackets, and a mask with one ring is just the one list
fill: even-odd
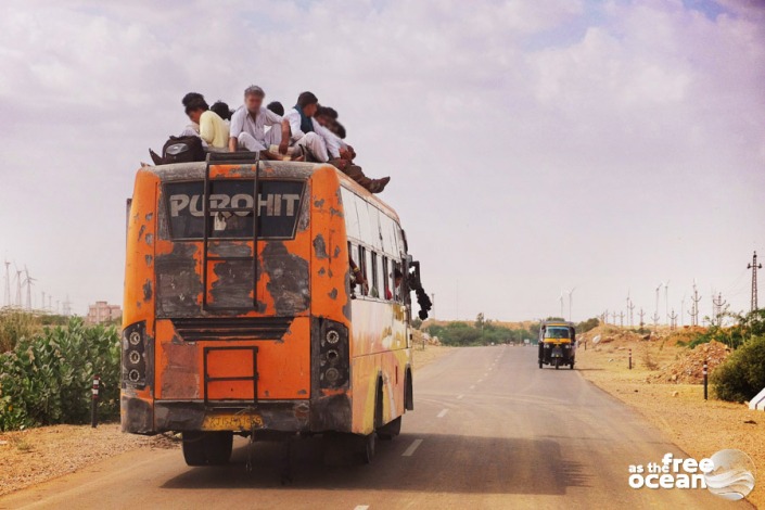
[[(252, 239), (255, 209), (254, 181), (212, 180), (207, 237)], [(292, 239), (297, 227), (305, 183), (291, 180), (258, 182), (258, 239)], [(204, 182), (168, 182), (164, 186), (170, 239), (204, 238)]]

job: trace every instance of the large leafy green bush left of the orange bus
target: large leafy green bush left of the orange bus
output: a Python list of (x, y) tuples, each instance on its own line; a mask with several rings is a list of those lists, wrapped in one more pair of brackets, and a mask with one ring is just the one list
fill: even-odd
[(100, 415), (119, 409), (119, 334), (114, 327), (46, 328), (0, 355), (0, 431), (84, 423), (93, 375), (101, 377)]

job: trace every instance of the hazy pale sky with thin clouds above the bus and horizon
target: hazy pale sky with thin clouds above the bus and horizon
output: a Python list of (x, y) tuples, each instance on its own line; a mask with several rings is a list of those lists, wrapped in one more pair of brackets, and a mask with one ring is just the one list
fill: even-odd
[(667, 279), (678, 310), (693, 279), (702, 314), (712, 288), (749, 307), (747, 263), (765, 259), (761, 2), (106, 4), (0, 7), (0, 257), (29, 268), (38, 304), (122, 302), (146, 149), (181, 130), (183, 93), (238, 105), (257, 84), (286, 106), (314, 91), (367, 173), (392, 176), (383, 199), (438, 318), (557, 315), (572, 286), (575, 320), (628, 290), (652, 313)]

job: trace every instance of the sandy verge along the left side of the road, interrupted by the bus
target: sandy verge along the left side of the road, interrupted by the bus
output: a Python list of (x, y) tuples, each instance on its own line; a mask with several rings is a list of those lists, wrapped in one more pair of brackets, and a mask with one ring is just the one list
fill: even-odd
[[(415, 370), (444, 356), (450, 347), (412, 347)], [(0, 432), (0, 495), (82, 469), (137, 448), (179, 448), (171, 436), (144, 437), (119, 432), (119, 425), (55, 425)]]

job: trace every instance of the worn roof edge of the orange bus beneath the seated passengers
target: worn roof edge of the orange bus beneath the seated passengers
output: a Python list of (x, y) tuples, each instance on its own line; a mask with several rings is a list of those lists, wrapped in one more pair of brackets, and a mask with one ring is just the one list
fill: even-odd
[[(220, 163), (226, 164), (227, 163)], [(251, 166), (253, 163), (241, 163), (240, 166)], [(190, 180), (190, 179), (204, 179), (205, 175), (205, 162), (193, 162), (193, 163), (174, 163), (169, 165), (157, 165), (157, 166), (144, 166), (141, 169), (144, 171), (151, 171), (156, 175), (160, 180), (174, 181), (174, 180)], [(380, 200), (377, 195), (365, 190), (358, 186), (353, 179), (343, 174), (335, 166), (327, 163), (304, 163), (304, 162), (279, 162), (279, 161), (262, 161), (260, 171), (270, 171), (275, 177), (292, 177), (298, 179), (308, 179), (314, 171), (321, 168), (332, 168), (340, 177), (341, 182), (344, 182), (347, 188), (353, 190), (359, 196), (365, 200), (372, 202), (374, 205), (380, 207), (394, 218), (397, 222), (399, 221), (396, 212), (387, 205), (385, 202)]]

